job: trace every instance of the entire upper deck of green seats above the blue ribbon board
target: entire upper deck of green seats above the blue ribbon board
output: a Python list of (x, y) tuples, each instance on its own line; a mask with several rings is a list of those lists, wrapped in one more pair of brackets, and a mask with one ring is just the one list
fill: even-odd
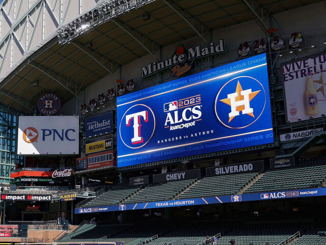
[[(320, 163), (324, 160), (326, 161), (326, 158), (315, 161), (316, 163)], [(118, 185), (91, 200), (83, 207), (236, 194), (243, 187), (251, 183), (258, 175), (259, 173), (243, 173), (204, 177), (199, 181), (192, 179), (156, 183), (150, 184), (145, 188), (143, 186), (128, 186), (127, 184)], [(326, 164), (268, 170), (260, 179), (245, 190), (244, 193), (321, 187), (325, 180)]]

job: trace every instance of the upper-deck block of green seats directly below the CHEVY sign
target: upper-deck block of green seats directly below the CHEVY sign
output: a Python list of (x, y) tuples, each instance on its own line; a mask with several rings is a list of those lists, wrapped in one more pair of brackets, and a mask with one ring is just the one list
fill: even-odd
[(195, 181), (195, 179), (191, 179), (152, 184), (123, 203), (147, 203), (171, 200)]

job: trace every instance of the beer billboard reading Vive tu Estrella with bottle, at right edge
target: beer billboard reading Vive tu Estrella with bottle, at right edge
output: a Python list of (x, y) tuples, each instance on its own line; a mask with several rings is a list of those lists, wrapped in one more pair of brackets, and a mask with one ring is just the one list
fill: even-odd
[(282, 71), (287, 121), (326, 114), (326, 53), (285, 63)]

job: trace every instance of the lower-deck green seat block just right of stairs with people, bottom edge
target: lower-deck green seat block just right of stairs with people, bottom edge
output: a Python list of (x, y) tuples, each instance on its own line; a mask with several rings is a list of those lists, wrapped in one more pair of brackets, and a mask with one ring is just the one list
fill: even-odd
[(249, 244), (250, 242), (264, 244), (269, 242), (269, 245), (278, 245), (306, 226), (307, 223), (244, 224), (222, 236), (216, 244), (229, 244), (229, 240), (233, 238), (237, 244)]

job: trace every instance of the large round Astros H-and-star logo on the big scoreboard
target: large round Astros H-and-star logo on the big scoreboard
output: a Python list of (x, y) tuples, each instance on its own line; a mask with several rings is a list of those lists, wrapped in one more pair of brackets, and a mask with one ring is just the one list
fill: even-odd
[(265, 105), (266, 93), (257, 79), (236, 77), (225, 83), (218, 92), (215, 114), (225, 127), (242, 129), (258, 120)]

